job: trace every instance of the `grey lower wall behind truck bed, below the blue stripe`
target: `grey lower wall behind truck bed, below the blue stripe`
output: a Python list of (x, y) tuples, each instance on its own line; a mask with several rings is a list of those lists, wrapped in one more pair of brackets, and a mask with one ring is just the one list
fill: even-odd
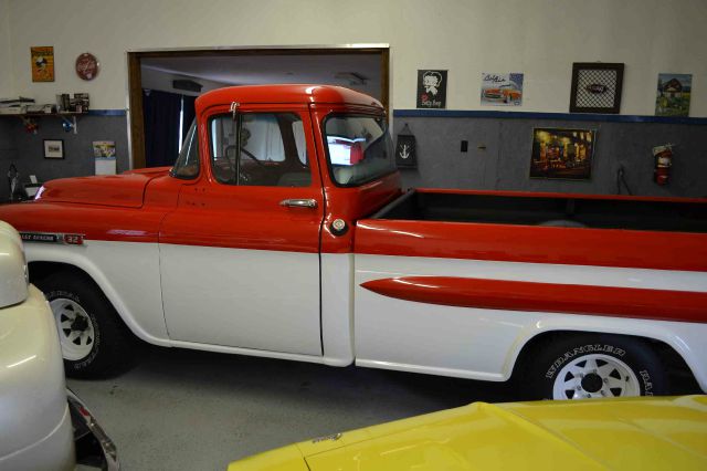
[[(624, 169), (634, 195), (707, 198), (707, 126), (557, 119), (399, 117), (415, 135), (418, 169), (401, 169), (404, 187), (616, 193)], [(597, 147), (589, 180), (530, 179), (534, 127), (590, 128)], [(461, 151), (461, 142), (468, 151)], [(674, 143), (669, 185), (653, 181), (652, 147)], [(625, 187), (621, 192), (626, 195)]]

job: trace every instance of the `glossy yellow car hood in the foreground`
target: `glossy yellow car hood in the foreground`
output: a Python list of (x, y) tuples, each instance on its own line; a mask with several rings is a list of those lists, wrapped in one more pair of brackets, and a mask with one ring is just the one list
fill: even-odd
[(488, 405), (297, 443), (229, 470), (707, 469), (707, 396)]

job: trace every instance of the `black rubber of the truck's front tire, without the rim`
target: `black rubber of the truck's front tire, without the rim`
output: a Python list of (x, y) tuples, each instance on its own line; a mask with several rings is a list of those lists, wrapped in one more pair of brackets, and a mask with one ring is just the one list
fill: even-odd
[[(138, 347), (137, 339), (93, 280), (87, 275), (62, 271), (52, 273), (35, 284), (44, 292), (50, 304), (55, 300), (71, 300), (78, 304), (91, 318), (94, 334), (91, 352), (77, 359), (67, 359), (64, 352), (66, 376), (106, 377), (122, 373), (134, 365), (135, 350)], [(59, 336), (61, 342), (61, 331)]]

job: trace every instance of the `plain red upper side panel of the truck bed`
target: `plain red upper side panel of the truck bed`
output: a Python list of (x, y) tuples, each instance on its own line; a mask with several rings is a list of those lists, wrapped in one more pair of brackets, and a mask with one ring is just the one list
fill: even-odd
[(707, 234), (365, 219), (356, 253), (707, 271)]

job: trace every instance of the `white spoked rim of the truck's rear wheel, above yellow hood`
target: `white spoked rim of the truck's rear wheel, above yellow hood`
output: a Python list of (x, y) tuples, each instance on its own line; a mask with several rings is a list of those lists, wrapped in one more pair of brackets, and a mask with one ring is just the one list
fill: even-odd
[(584, 355), (564, 365), (552, 388), (552, 399), (640, 395), (639, 378), (629, 365), (601, 354)]

